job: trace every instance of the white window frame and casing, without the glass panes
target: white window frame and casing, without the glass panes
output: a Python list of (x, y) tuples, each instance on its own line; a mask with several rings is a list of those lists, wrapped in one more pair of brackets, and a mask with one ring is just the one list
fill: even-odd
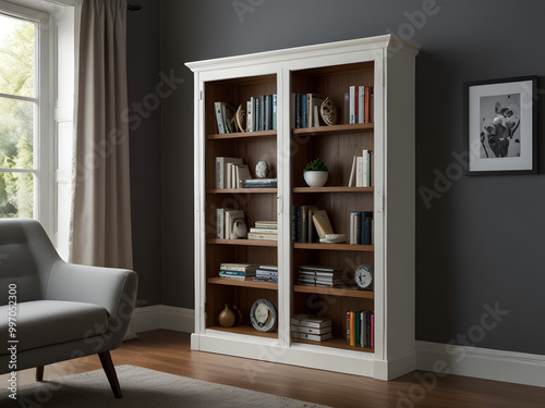
[[(71, 195), (71, 169), (68, 169), (66, 158), (62, 158), (61, 152), (71, 152), (72, 146), (74, 65), (70, 62), (74, 61), (74, 1), (17, 2), (20, 4), (0, 0), (0, 12), (35, 22), (38, 26), (35, 42), (38, 114), (35, 123), (34, 170), (23, 172), (35, 174), (34, 218), (44, 225), (61, 257), (68, 259), (70, 214), (65, 211), (65, 201), (59, 197), (61, 188), (64, 200)], [(71, 157), (68, 160), (71, 162)], [(64, 163), (63, 169), (61, 162)]]

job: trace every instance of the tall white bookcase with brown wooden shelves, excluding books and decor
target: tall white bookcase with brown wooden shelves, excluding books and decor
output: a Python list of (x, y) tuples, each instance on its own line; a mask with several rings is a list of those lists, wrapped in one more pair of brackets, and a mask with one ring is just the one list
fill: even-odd
[[(249, 55), (191, 62), (195, 77), (195, 333), (192, 349), (391, 380), (415, 369), (414, 349), (414, 74), (420, 46), (384, 35)], [(374, 89), (373, 122), (344, 122), (349, 86)], [(293, 94), (328, 96), (338, 124), (295, 128)], [(277, 95), (274, 131), (219, 134), (214, 104), (242, 104)], [(348, 187), (352, 158), (373, 150), (371, 187)], [(217, 189), (216, 157), (242, 158), (253, 171), (266, 160), (277, 188)], [(329, 168), (324, 187), (307, 187), (312, 159)], [(374, 245), (293, 243), (292, 208), (325, 209), (336, 233), (349, 234), (350, 211), (373, 211)], [(277, 220), (278, 240), (216, 238), (216, 209), (242, 209), (249, 227)], [(221, 262), (278, 264), (278, 284), (225, 280)], [(373, 290), (298, 284), (300, 264), (374, 269)], [(257, 299), (278, 310), (274, 332), (250, 323)], [(242, 324), (221, 327), (218, 314), (235, 304)], [(374, 348), (347, 341), (347, 312), (373, 310)], [(334, 338), (292, 338), (290, 318), (331, 319)], [(251, 364), (249, 366), (251, 367)]]

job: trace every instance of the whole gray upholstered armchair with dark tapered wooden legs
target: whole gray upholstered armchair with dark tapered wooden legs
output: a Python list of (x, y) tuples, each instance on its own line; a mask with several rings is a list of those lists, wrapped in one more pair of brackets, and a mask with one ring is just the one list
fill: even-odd
[[(35, 220), (0, 220), (0, 374), (98, 354), (121, 398), (110, 350), (129, 327), (133, 271), (64, 262)], [(15, 346), (14, 348), (12, 346)], [(16, 351), (15, 351), (16, 350)]]

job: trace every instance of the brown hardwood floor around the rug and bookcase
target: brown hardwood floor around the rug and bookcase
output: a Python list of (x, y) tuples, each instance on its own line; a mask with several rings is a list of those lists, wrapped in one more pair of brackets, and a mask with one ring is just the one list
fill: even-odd
[[(300, 367), (192, 351), (190, 334), (157, 330), (140, 333), (111, 351), (116, 366), (132, 364), (175, 375), (282, 395), (331, 407), (544, 407), (545, 388), (447, 375), (435, 383), (413, 372), (385, 382)], [(45, 381), (101, 369), (97, 356), (45, 369)], [(4, 382), (5, 375), (0, 375)], [(422, 385), (421, 381), (426, 385)], [(35, 370), (22, 371), (19, 384), (33, 383)], [(123, 380), (120, 379), (121, 388)], [(105, 375), (105, 386), (109, 386)], [(183, 406), (183, 401), (180, 401)]]

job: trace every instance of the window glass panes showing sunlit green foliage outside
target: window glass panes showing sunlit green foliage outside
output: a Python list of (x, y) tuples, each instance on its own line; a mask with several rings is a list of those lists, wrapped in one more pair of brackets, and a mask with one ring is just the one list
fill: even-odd
[(0, 14), (0, 217), (33, 218), (39, 180), (36, 22)]

